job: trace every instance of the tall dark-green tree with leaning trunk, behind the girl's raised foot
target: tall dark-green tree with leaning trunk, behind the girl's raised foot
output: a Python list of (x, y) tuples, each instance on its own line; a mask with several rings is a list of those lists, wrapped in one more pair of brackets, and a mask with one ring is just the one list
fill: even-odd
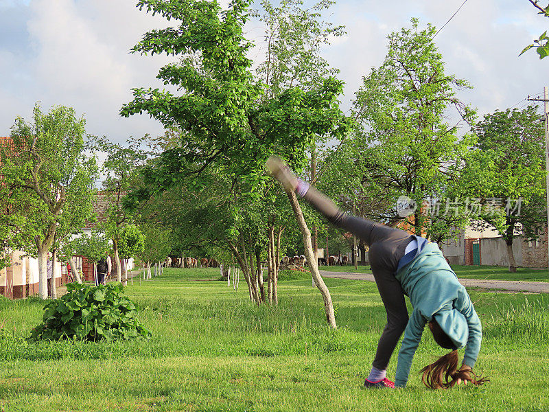
[[(134, 100), (122, 107), (121, 115), (149, 113), (167, 128), (176, 126), (192, 135), (180, 147), (163, 152), (155, 168), (145, 170), (149, 188), (167, 189), (183, 181), (200, 188), (207, 184), (202, 171), (222, 166), (248, 188), (245, 196), (259, 200), (270, 179), (264, 172), (269, 155), (283, 153), (292, 166), (303, 168), (305, 152), (316, 137), (346, 133), (347, 119), (337, 101), (342, 83), (334, 78), (310, 90), (288, 87), (268, 97), (266, 84), (253, 74), (247, 57), (251, 43), (242, 34), (249, 3), (234, 0), (229, 10), (221, 10), (217, 1), (138, 2), (139, 8), (179, 22), (148, 32), (133, 51), (181, 56), (178, 64), (163, 67), (157, 76), (181, 93), (134, 89)], [(313, 272), (335, 327), (331, 297), (318, 269)]]

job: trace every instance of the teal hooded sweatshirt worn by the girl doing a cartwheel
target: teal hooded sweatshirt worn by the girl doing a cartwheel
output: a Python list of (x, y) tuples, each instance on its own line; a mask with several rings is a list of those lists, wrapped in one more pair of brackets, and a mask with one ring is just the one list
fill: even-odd
[(447, 264), (436, 243), (417, 251), (414, 260), (395, 275), (414, 307), (399, 351), (395, 385), (405, 387), (421, 334), (428, 321), (435, 319), (457, 349), (467, 346), (463, 363), (474, 367), (482, 327), (471, 298)]

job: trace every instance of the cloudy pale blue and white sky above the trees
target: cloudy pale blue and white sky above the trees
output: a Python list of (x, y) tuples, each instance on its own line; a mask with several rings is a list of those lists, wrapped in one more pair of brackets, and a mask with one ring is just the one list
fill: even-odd
[[(135, 8), (135, 0), (0, 0), (0, 135), (8, 135), (16, 116), (30, 119), (35, 102), (43, 108), (72, 106), (87, 131), (114, 141), (162, 126), (143, 116), (119, 117), (132, 87), (154, 82), (169, 60), (132, 55), (141, 35), (167, 23)], [(349, 107), (362, 76), (386, 54), (386, 36), (410, 25), (410, 18), (442, 27), (463, 0), (337, 0), (329, 19), (347, 34), (325, 49), (325, 58), (346, 82), (342, 103)], [(467, 0), (435, 40), (447, 72), (469, 80), (474, 89), (460, 98), (478, 113), (521, 108), (527, 95), (549, 84), (549, 58), (534, 50), (517, 57), (549, 27), (528, 0)], [(261, 27), (246, 30), (260, 38)], [(256, 56), (260, 56), (256, 52)], [(546, 73), (544, 76), (543, 73)]]

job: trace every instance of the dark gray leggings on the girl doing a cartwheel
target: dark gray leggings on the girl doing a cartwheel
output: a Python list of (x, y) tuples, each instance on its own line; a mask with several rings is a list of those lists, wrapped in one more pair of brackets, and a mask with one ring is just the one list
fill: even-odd
[(395, 278), (395, 273), (399, 260), (404, 256), (404, 249), (413, 237), (404, 230), (344, 213), (314, 187), (310, 187), (303, 198), (326, 216), (329, 222), (350, 231), (370, 247), (368, 252), (370, 266), (387, 312), (387, 324), (379, 338), (372, 365), (377, 369), (386, 369), (390, 356), (408, 323), (404, 290)]

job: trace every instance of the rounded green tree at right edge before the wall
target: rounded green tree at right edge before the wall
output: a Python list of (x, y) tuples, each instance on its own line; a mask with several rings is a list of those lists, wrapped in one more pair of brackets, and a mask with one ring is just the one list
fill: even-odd
[(511, 272), (517, 271), (513, 240), (521, 232), (536, 238), (546, 221), (544, 127), (537, 106), (495, 111), (474, 127), (478, 144), (464, 179), (482, 220), (503, 236)]

